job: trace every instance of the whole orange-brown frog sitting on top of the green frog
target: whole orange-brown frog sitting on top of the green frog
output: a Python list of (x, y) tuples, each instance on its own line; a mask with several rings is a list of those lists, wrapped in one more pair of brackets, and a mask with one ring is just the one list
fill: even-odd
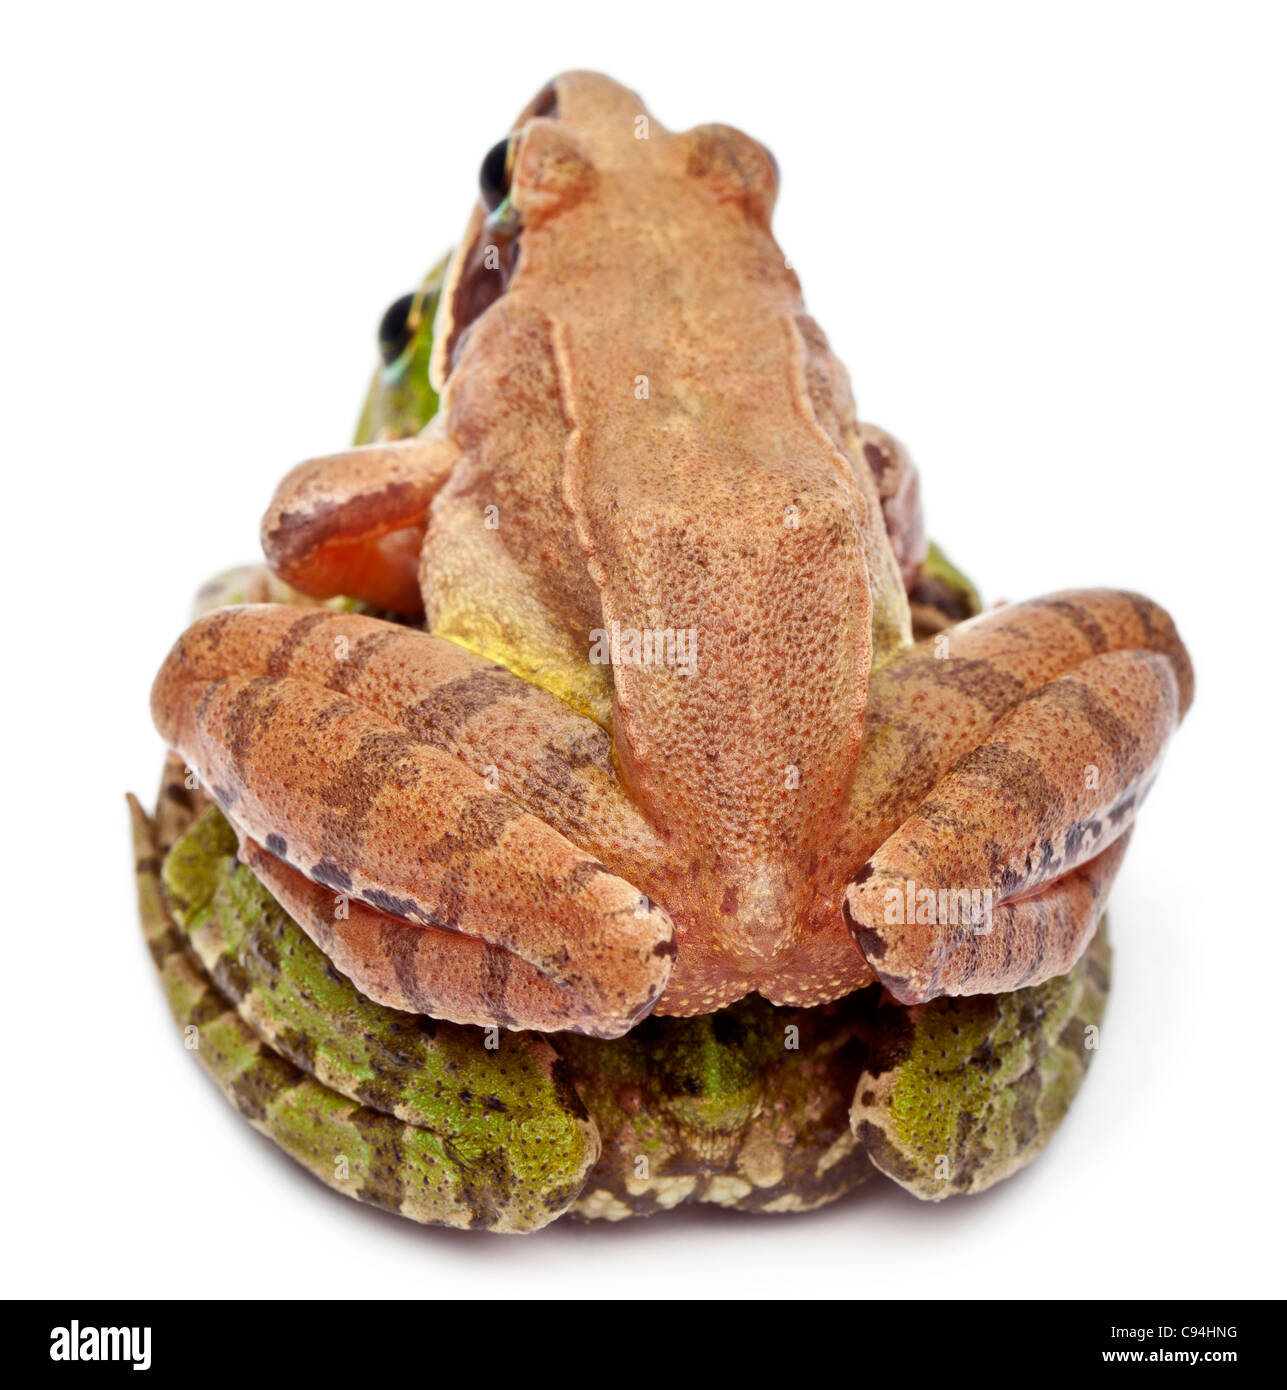
[[(448, 271), (438, 414), (264, 520), (292, 584), (427, 631), (217, 614), (163, 734), (399, 1006), (616, 1036), (1067, 970), (1191, 698), (1170, 620), (1087, 591), (913, 646), (916, 473), (803, 310), (769, 153), (592, 74), (516, 131)], [(896, 920), (920, 890), (990, 920)]]

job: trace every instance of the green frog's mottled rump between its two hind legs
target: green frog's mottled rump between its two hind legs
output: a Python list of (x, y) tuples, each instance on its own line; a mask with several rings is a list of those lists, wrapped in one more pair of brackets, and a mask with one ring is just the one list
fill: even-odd
[(849, 1126), (873, 991), (819, 1009), (748, 998), (559, 1051), (603, 1137), (573, 1211), (644, 1216), (680, 1202), (808, 1211), (871, 1173)]

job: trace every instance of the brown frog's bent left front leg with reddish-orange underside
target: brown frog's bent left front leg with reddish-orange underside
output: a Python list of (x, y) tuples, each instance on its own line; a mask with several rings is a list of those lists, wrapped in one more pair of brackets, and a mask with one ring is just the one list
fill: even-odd
[(272, 569), (311, 598), (364, 599), (414, 616), (429, 503), (457, 459), (434, 427), (414, 439), (309, 459), (281, 481), (261, 524)]

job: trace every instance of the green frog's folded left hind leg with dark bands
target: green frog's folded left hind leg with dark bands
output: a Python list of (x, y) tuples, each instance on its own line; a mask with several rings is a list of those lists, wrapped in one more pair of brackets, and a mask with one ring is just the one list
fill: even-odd
[(214, 809), (165, 862), (171, 917), (133, 798), (131, 815), (171, 1011), (257, 1130), (336, 1191), (413, 1220), (521, 1232), (567, 1208), (599, 1141), (543, 1038), (506, 1034), (491, 1051), (479, 1030), (364, 999), (236, 867)]

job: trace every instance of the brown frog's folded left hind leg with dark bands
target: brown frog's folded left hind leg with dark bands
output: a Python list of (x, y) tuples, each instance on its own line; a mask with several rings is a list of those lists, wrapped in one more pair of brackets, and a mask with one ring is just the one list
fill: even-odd
[[(560, 799), (603, 806), (614, 862), (657, 853), (589, 721), (553, 696), (424, 632), (265, 605), (197, 620), (157, 676), (153, 717), (239, 833), (302, 876), (293, 890), (275, 876), (288, 910), (307, 883), (339, 922), (361, 905), (350, 942), (359, 927), (399, 929), (386, 954), (359, 944), (350, 965), (400, 969), (410, 1005), (616, 1037), (660, 995), (670, 917), (539, 816), (557, 783)], [(511, 766), (506, 737), (535, 771)], [(593, 831), (582, 842), (598, 848)], [(314, 898), (314, 927), (317, 915)]]

